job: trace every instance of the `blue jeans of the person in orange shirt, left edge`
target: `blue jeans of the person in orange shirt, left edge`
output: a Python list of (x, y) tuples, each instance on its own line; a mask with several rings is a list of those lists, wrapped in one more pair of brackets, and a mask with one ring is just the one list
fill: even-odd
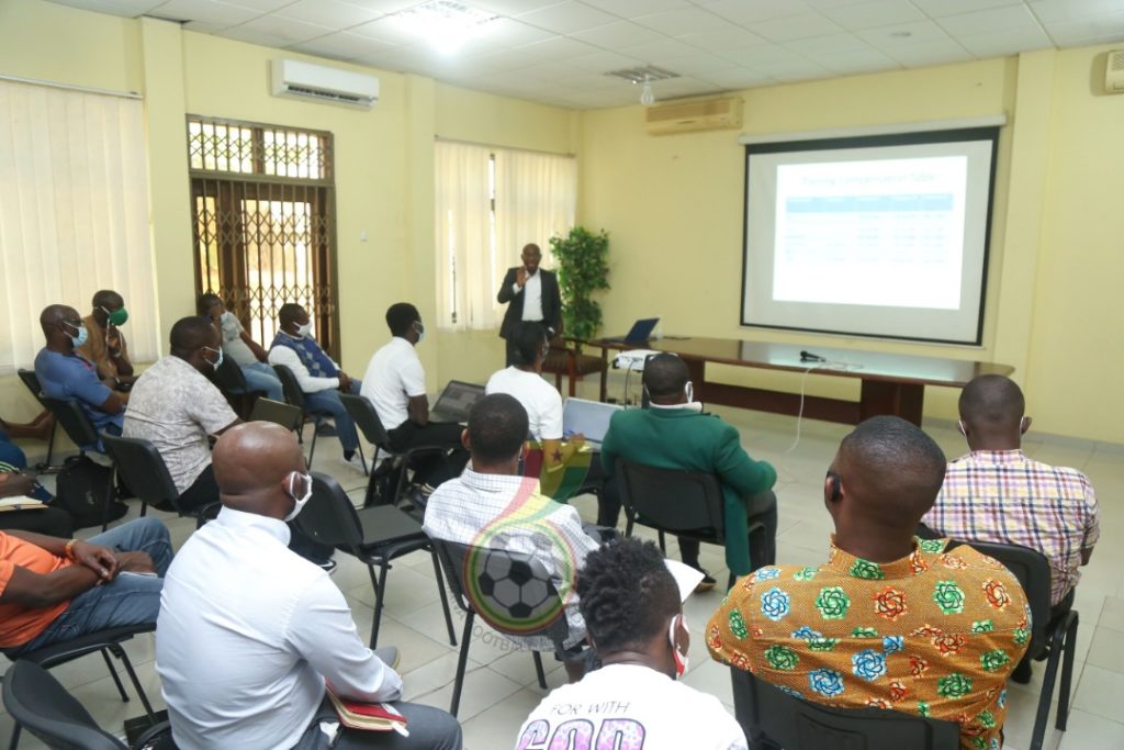
[(8, 649), (9, 658), (109, 627), (156, 622), (164, 573), (172, 563), (172, 540), (164, 524), (152, 516), (137, 518), (98, 534), (90, 543), (115, 552), (147, 552), (158, 578), (118, 573), (110, 582), (79, 594), (45, 631), (24, 645)]

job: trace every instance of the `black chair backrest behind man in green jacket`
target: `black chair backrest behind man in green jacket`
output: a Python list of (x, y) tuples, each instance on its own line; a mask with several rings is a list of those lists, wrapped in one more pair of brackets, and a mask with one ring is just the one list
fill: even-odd
[(722, 486), (714, 475), (617, 460), (620, 499), (633, 521), (668, 532), (725, 539)]

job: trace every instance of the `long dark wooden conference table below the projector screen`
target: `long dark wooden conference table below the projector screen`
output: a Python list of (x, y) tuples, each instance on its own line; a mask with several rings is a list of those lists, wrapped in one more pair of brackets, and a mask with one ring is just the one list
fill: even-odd
[[(678, 354), (687, 362), (695, 385), (695, 398), (705, 404), (734, 406), (776, 414), (800, 413), (800, 394), (735, 386), (707, 380), (707, 364), (780, 370), (787, 372), (852, 378), (860, 381), (858, 401), (822, 396), (804, 396), (804, 416), (826, 422), (858, 424), (869, 417), (891, 414), (921, 425), (925, 386), (962, 388), (981, 374), (1010, 374), (1014, 368), (994, 362), (972, 362), (940, 356), (887, 354), (855, 349), (796, 346), (760, 341), (665, 336), (644, 344), (617, 340), (593, 340), (586, 345), (601, 350), (601, 400), (608, 397), (610, 351), (652, 350)], [(800, 360), (801, 351), (826, 362)]]

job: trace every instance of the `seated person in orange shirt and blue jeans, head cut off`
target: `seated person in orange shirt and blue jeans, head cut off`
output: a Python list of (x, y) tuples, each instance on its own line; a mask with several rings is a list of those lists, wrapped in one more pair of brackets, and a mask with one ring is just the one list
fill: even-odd
[(167, 530), (151, 516), (89, 542), (0, 532), (0, 649), (16, 659), (79, 635), (156, 622), (171, 561)]

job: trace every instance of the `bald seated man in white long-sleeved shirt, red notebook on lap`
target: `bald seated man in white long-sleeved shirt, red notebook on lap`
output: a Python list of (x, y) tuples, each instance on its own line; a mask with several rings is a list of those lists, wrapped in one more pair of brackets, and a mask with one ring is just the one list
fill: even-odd
[(224, 507), (176, 555), (156, 631), (176, 747), (457, 750), (455, 719), (408, 703), (396, 707), (409, 738), (321, 730), (338, 721), (325, 683), (346, 698), (387, 702), (402, 680), (397, 650), (366, 648), (327, 573), (285, 549), (285, 522), (312, 494), (296, 436), (264, 422), (230, 428), (215, 445), (215, 478)]

